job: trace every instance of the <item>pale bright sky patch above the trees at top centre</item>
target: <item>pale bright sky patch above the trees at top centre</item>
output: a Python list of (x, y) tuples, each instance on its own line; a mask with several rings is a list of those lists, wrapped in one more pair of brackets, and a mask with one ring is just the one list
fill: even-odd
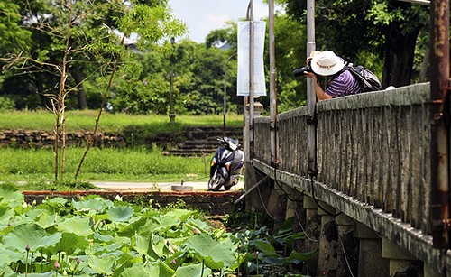
[[(189, 39), (205, 42), (210, 31), (226, 27), (227, 21), (246, 17), (248, 0), (169, 0), (177, 18), (188, 25)], [(268, 17), (268, 5), (253, 0), (253, 19)]]

